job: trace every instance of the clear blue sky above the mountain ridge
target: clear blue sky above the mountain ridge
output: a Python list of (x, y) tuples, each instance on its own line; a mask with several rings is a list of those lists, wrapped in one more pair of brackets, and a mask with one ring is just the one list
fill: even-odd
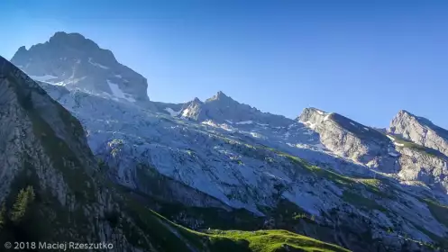
[(315, 106), (448, 128), (448, 1), (0, 1), (0, 55), (80, 32), (148, 78), (153, 101), (222, 90), (265, 112)]

